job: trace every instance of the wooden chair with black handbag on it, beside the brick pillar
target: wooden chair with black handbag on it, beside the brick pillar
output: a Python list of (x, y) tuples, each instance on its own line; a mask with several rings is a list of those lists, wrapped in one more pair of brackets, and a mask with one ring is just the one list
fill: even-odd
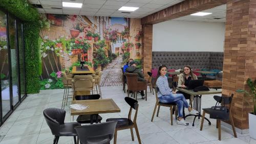
[[(231, 94), (231, 97), (220, 97), (218, 95), (215, 95), (214, 99), (217, 101), (217, 103), (221, 103), (222, 106), (224, 106), (224, 107), (226, 107), (225, 105), (229, 105), (229, 107), (226, 107), (229, 111), (229, 114), (227, 115), (228, 118), (226, 118), (226, 119), (220, 118), (220, 117), (223, 117), (223, 114), (215, 115), (215, 117), (219, 117), (216, 119), (217, 120), (216, 128), (218, 128), (218, 131), (219, 131), (219, 140), (221, 140), (221, 121), (230, 121), (232, 130), (234, 133), (234, 137), (237, 137), (237, 132), (236, 132), (236, 128), (234, 127), (233, 117), (232, 117), (232, 113), (231, 113), (232, 105), (233, 105), (233, 103), (232, 103), (233, 94)], [(200, 131), (202, 131), (202, 129), (203, 129), (205, 113), (210, 114), (211, 112), (212, 112), (211, 108), (203, 108), (203, 115), (202, 115)]]

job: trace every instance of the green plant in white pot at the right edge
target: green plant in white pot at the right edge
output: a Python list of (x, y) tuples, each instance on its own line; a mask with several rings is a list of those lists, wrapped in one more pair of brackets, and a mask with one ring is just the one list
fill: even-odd
[(237, 90), (237, 92), (245, 93), (249, 98), (245, 99), (249, 105), (253, 104), (253, 111), (249, 113), (249, 132), (250, 137), (256, 139), (256, 80), (252, 81), (250, 78), (246, 81), (247, 85), (250, 88), (250, 91), (247, 90)]

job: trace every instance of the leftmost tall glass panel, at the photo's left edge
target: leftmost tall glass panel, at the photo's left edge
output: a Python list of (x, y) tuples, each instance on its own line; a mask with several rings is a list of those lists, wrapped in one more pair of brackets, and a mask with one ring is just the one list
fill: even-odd
[(3, 116), (11, 110), (6, 18), (6, 14), (0, 11), (0, 79)]

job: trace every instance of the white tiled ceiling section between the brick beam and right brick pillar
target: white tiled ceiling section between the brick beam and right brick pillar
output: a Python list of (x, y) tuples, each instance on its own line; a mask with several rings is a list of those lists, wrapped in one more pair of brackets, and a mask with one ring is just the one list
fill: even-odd
[[(212, 9), (204, 10), (202, 12), (211, 12), (212, 14), (206, 16), (193, 16), (186, 15), (183, 17), (175, 18), (173, 20), (179, 21), (202, 21), (202, 22), (226, 22), (226, 5), (221, 5)], [(221, 19), (215, 19), (221, 18)]]

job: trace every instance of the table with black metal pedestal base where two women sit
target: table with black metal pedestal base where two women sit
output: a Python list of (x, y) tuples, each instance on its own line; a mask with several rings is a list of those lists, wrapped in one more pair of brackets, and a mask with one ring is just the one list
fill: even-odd
[[(200, 119), (200, 117), (202, 117), (202, 115), (201, 115), (201, 98), (202, 98), (202, 95), (203, 94), (218, 94), (218, 93), (221, 93), (221, 90), (219, 90), (219, 89), (210, 89), (210, 90), (207, 90), (207, 91), (198, 91), (198, 92), (195, 92), (193, 90), (184, 89), (184, 88), (177, 88), (177, 89), (182, 91), (182, 92), (190, 94), (189, 104), (192, 103), (192, 101), (194, 99), (193, 107), (194, 107), (195, 110), (197, 110), (199, 112), (199, 114), (198, 115), (188, 114), (184, 117), (184, 119), (185, 119), (187, 116), (191, 116), (191, 115), (195, 116), (192, 126), (194, 126), (196, 117), (198, 117), (198, 119)], [(206, 121), (208, 121), (208, 123), (210, 125), (211, 123), (210, 123), (209, 119), (207, 119), (207, 118), (205, 118), (205, 119), (206, 119)]]

